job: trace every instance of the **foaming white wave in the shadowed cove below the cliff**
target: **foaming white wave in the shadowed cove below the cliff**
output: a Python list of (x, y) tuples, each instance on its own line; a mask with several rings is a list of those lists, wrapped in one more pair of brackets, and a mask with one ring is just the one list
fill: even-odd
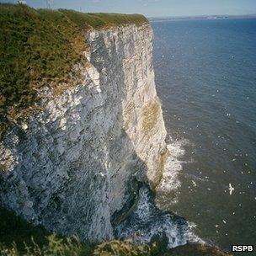
[(194, 234), (194, 227), (195, 224), (180, 216), (160, 211), (154, 203), (151, 190), (142, 186), (136, 210), (115, 227), (115, 237), (131, 239), (136, 244), (151, 243), (154, 237), (166, 237), (168, 248), (188, 242), (204, 243)]

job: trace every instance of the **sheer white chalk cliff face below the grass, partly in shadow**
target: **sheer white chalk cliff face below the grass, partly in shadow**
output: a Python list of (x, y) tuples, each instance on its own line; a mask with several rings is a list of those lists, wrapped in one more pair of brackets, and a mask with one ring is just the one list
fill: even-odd
[(88, 33), (83, 84), (54, 96), (0, 144), (0, 203), (63, 234), (113, 237), (136, 180), (161, 179), (166, 131), (146, 24)]

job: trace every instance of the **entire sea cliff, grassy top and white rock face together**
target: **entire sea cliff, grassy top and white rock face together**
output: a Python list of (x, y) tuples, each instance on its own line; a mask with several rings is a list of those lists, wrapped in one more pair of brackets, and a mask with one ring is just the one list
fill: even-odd
[[(0, 204), (48, 230), (111, 239), (136, 184), (154, 188), (167, 154), (152, 29), (136, 15), (1, 8)], [(41, 19), (50, 33), (35, 31)]]

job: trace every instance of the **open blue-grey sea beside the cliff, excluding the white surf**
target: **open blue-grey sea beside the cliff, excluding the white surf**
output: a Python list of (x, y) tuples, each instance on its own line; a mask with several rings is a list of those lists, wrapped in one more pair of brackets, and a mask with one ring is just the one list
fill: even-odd
[(158, 203), (193, 221), (208, 243), (227, 250), (256, 245), (256, 19), (172, 20), (152, 28), (169, 141), (185, 152), (177, 201), (170, 194), (169, 204)]

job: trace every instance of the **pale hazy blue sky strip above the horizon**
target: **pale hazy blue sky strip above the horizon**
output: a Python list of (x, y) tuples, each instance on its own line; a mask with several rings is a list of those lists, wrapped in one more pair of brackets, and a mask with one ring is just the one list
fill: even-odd
[[(83, 12), (142, 13), (147, 17), (256, 13), (256, 0), (26, 0), (29, 6)], [(16, 0), (0, 0), (16, 3)]]

